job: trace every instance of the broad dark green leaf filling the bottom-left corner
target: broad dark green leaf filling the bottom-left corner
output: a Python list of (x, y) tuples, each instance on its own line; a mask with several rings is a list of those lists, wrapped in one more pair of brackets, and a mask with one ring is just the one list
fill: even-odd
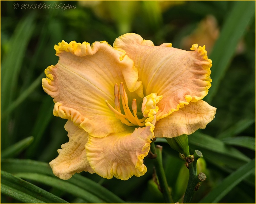
[(1, 194), (24, 203), (68, 203), (52, 193), (5, 171), (1, 171)]

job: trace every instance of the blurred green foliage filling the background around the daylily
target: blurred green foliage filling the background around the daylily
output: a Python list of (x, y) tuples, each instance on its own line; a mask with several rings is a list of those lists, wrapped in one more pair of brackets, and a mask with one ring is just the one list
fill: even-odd
[[(52, 9), (53, 4), (75, 8)], [(33, 196), (41, 192), (42, 202), (163, 203), (152, 180), (149, 158), (144, 159), (148, 172), (127, 181), (88, 172), (68, 181), (52, 175), (47, 163), (58, 156), (57, 149), (68, 137), (66, 121), (53, 116), (54, 103), (44, 93), (41, 79), (44, 69), (58, 62), (53, 47), (61, 40), (106, 40), (112, 45), (121, 34), (133, 32), (155, 45), (171, 42), (173, 47), (183, 48), (182, 40), (208, 15), (216, 18), (220, 29), (209, 53), (214, 91), (210, 89), (210, 97), (206, 97), (217, 113), (205, 129), (188, 136), (190, 151), (203, 153), (200, 168), (207, 176), (192, 201), (216, 198), (221, 203), (255, 203), (254, 1), (1, 1), (1, 202), (29, 202), (26, 199), (39, 199)], [(173, 199), (182, 202), (188, 171), (175, 150), (163, 140), (156, 142), (163, 146)], [(244, 175), (244, 171), (249, 173)], [(23, 189), (17, 187), (21, 180), (17, 176), (31, 188), (28, 191), (23, 186), (22, 198), (15, 197)], [(84, 184), (77, 183), (82, 179)], [(63, 189), (75, 184), (77, 191)], [(220, 196), (216, 188), (222, 184), (226, 191)]]

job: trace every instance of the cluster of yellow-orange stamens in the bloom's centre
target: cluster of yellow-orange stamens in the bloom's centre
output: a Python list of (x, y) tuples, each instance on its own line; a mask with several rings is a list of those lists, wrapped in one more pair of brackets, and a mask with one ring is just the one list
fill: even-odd
[[(120, 83), (120, 90), (118, 88), (118, 84), (115, 84), (114, 87), (114, 95), (115, 95), (115, 108), (113, 108), (107, 100), (105, 100), (107, 106), (111, 111), (113, 111), (116, 115), (116, 118), (120, 119), (122, 123), (128, 126), (145, 126), (146, 118), (139, 119), (137, 116), (137, 102), (136, 99), (132, 100), (132, 112), (128, 107), (128, 97), (126, 91), (124, 90), (123, 82)], [(122, 100), (122, 106), (124, 109), (124, 114), (121, 112), (120, 106), (120, 96)]]

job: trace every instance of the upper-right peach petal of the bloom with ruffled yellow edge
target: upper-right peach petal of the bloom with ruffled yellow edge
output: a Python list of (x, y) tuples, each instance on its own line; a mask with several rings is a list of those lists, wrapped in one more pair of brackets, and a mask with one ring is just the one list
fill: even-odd
[(154, 46), (150, 42), (135, 33), (127, 33), (115, 40), (114, 47), (124, 50), (134, 61), (144, 95), (157, 93), (163, 96), (157, 104), (156, 120), (160, 120), (190, 101), (198, 101), (207, 95), (212, 81), (212, 61), (208, 59), (205, 47), (197, 44), (191, 48), (194, 51), (184, 51), (171, 47), (170, 43)]

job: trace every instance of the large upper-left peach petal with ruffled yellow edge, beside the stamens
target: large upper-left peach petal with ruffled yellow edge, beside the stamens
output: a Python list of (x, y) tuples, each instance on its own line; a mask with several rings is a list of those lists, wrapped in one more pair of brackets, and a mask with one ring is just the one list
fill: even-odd
[(86, 42), (62, 41), (54, 48), (59, 62), (45, 69), (47, 78), (42, 81), (44, 91), (56, 103), (54, 115), (72, 120), (97, 137), (124, 131), (125, 125), (105, 100), (114, 106), (114, 85), (121, 82), (143, 97), (133, 61), (105, 41), (92, 46)]

